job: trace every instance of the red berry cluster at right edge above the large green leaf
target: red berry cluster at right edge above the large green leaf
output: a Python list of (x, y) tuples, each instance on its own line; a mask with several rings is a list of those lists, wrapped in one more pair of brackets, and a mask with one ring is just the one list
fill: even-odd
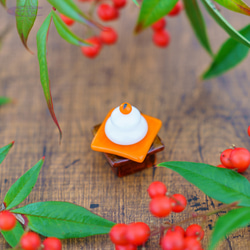
[(242, 173), (250, 165), (250, 152), (246, 148), (228, 148), (220, 155), (221, 164), (217, 167), (228, 168)]

